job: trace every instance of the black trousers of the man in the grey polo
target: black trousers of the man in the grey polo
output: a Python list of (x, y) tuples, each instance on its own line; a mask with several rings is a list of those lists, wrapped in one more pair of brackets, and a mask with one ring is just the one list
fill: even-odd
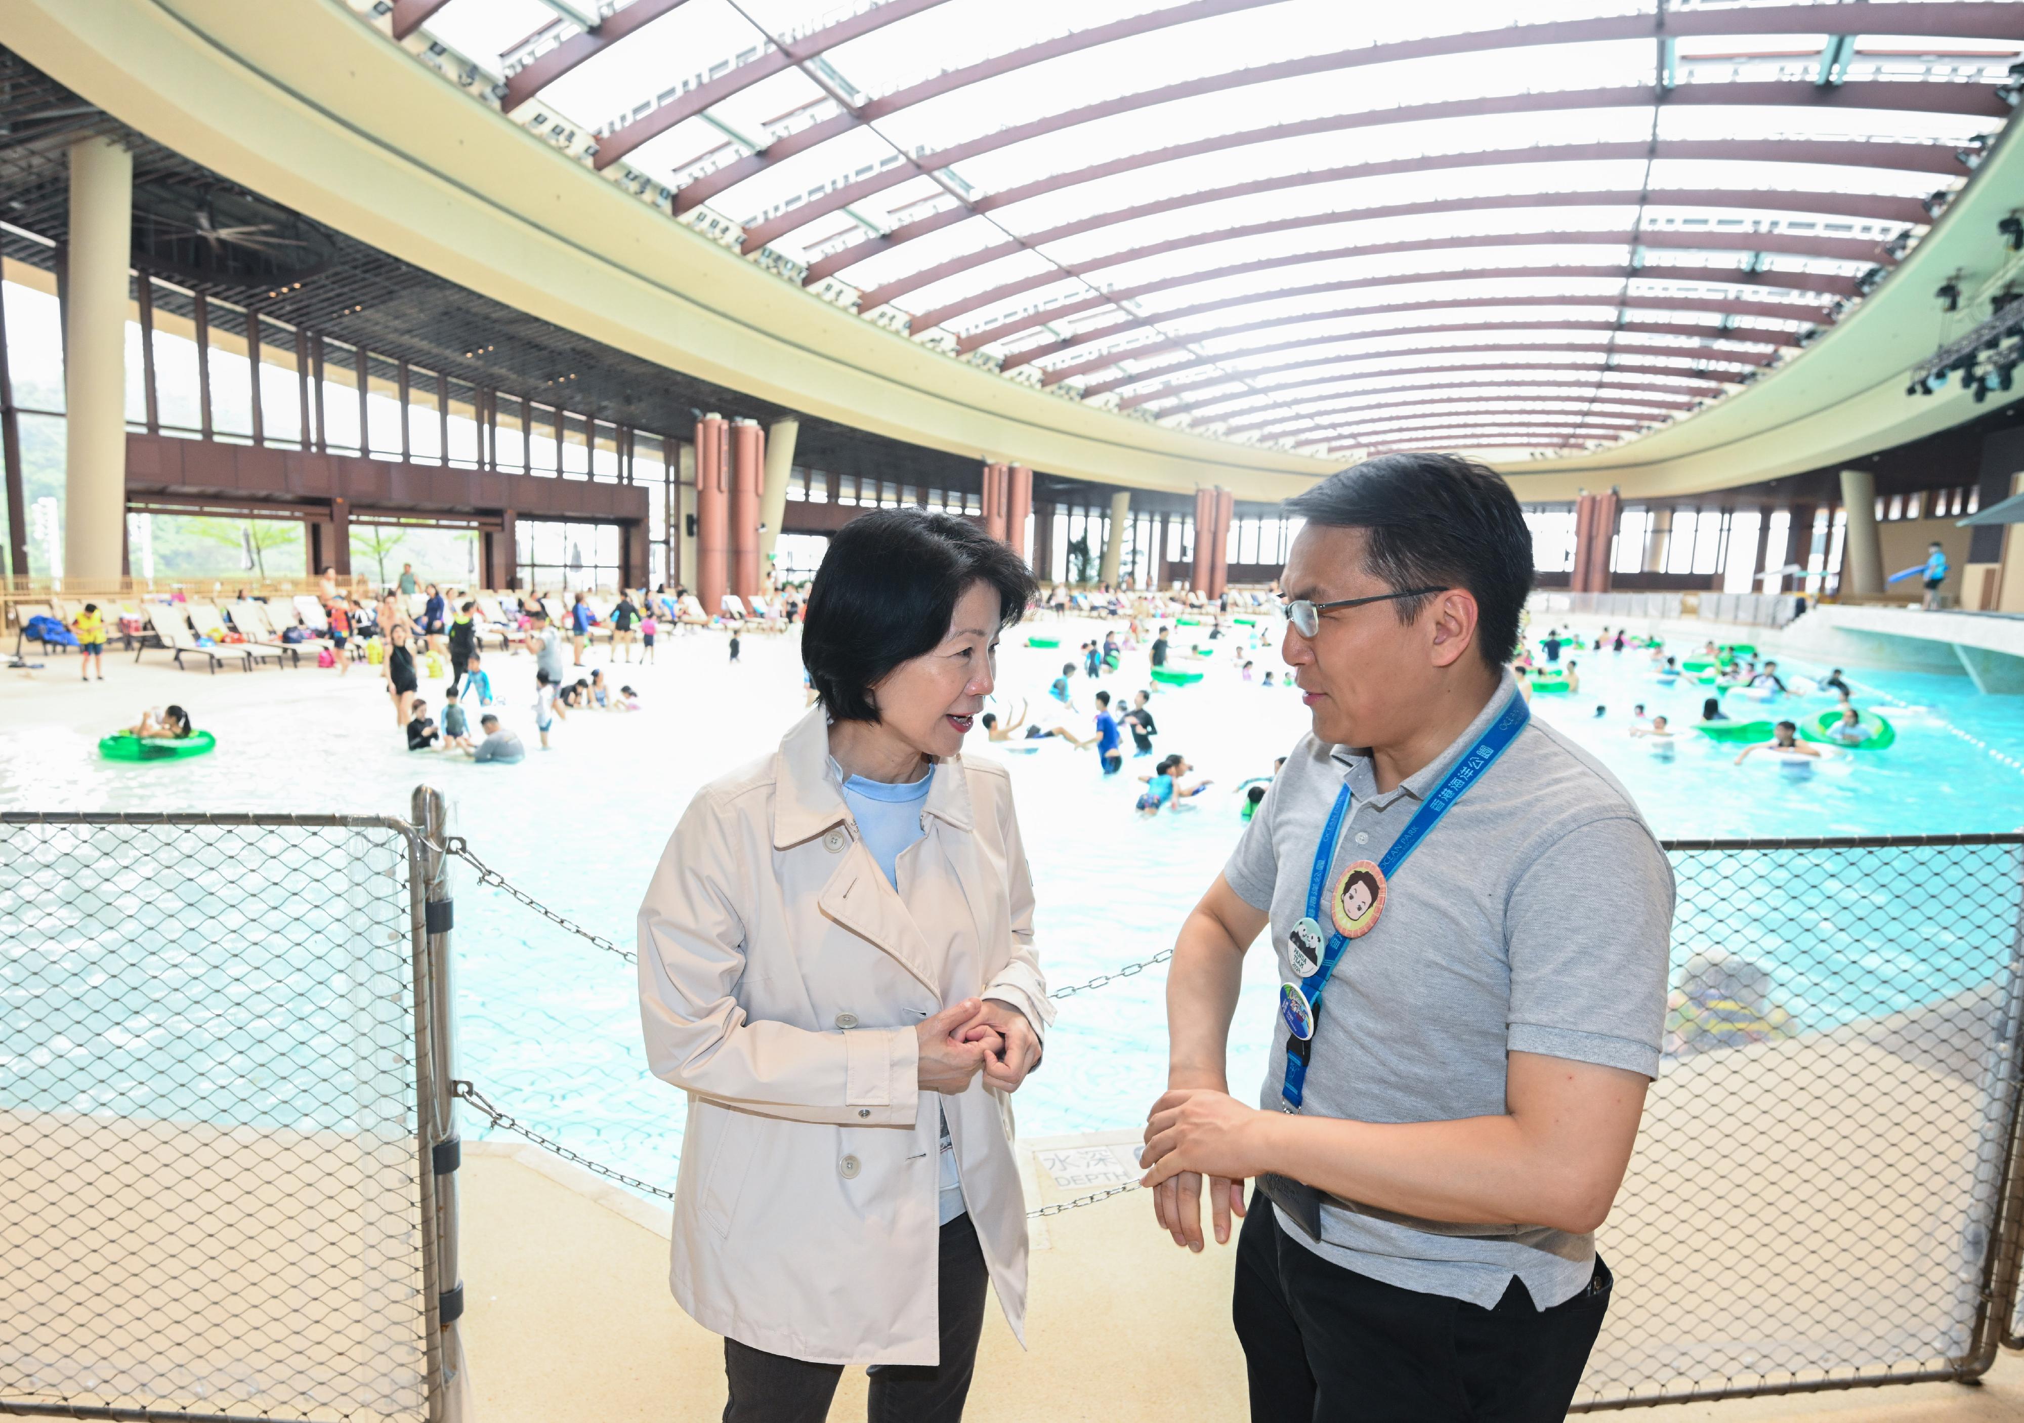
[(1609, 1310), (1609, 1269), (1534, 1310), (1494, 1310), (1330, 1263), (1253, 1192), (1237, 1241), (1237, 1338), (1253, 1423), (1561, 1423)]

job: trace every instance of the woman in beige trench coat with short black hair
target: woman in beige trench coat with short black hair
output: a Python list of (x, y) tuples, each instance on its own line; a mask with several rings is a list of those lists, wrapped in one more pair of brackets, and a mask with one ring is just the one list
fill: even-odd
[(830, 545), (814, 706), (702, 787), (640, 907), (652, 1071), (688, 1093), (672, 1285), (725, 1336), (727, 1423), (961, 1417), (986, 1279), (1014, 1334), (1026, 1212), (1008, 1095), (1052, 1010), (1004, 767), (961, 753), (1026, 565), (949, 514)]

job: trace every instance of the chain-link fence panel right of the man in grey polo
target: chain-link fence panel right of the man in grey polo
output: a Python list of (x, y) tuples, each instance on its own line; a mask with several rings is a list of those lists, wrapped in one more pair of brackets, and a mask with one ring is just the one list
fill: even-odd
[(1965, 1378), (2018, 1259), (2024, 836), (1680, 840), (1581, 1409)]

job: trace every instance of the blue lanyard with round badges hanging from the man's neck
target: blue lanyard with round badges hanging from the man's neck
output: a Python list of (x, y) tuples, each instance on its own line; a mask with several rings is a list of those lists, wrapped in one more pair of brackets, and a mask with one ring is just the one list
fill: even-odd
[[(1360, 939), (1376, 927), (1378, 915), (1384, 913), (1384, 899), (1390, 893), (1393, 876), (1399, 874), (1399, 868), (1433, 828), (1441, 824), (1441, 818), (1453, 810), (1455, 802), (1510, 749), (1530, 719), (1532, 708), (1526, 706), (1524, 696), (1514, 694), (1475, 745), (1463, 751), (1455, 765), (1449, 767), (1441, 785), (1421, 802), (1421, 808), (1407, 822), (1405, 830), (1399, 832), (1384, 858), (1376, 864), (1354, 860), (1330, 878), (1338, 840), (1342, 838), (1342, 822), (1350, 812), (1350, 787), (1344, 785), (1336, 793), (1336, 804), (1328, 812), (1328, 824), (1322, 830), (1322, 842), (1314, 850), (1314, 870), (1308, 876), (1308, 913), (1293, 925), (1291, 935), (1287, 935), (1287, 957), (1293, 961), (1293, 972), (1299, 974), (1299, 980), (1279, 986), (1279, 1016), (1285, 1018), (1289, 1034), (1285, 1042), (1285, 1081), (1279, 1087), (1281, 1111), (1299, 1111), (1305, 1097), (1308, 1059), (1314, 1053), (1314, 1030), (1322, 1018), (1322, 994), (1328, 990), (1328, 980), (1342, 961), (1344, 949), (1350, 947), (1352, 939)], [(1326, 927), (1320, 919), (1324, 891), (1328, 905)], [(1271, 1196), (1273, 1204), (1289, 1210), (1312, 1237), (1320, 1239), (1320, 1192), (1285, 1176), (1271, 1174), (1261, 1176), (1259, 1186)], [(1281, 1200), (1281, 1194), (1287, 1200)]]

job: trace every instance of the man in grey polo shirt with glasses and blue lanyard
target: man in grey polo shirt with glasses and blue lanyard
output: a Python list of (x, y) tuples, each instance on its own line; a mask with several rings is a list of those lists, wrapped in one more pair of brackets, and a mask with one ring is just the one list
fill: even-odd
[[(1202, 1249), (1204, 1178), (1218, 1241), (1247, 1217), (1253, 1419), (1561, 1419), (1609, 1306), (1593, 1231), (1658, 1073), (1672, 870), (1601, 765), (1518, 721), (1504, 664), (1532, 540), (1496, 474), (1380, 455), (1287, 510), (1308, 524), (1285, 660), (1314, 731), (1180, 931), (1146, 1182), (1180, 1245)], [(1386, 864), (1443, 787), (1445, 818)], [(1386, 866), (1374, 921), (1360, 860)], [(1293, 939), (1308, 917), (1342, 945), (1320, 986), (1316, 925)], [(1305, 1042), (1299, 1012), (1275, 1020), (1249, 1107), (1225, 1044), (1267, 927), (1279, 978), (1320, 1006)]]

